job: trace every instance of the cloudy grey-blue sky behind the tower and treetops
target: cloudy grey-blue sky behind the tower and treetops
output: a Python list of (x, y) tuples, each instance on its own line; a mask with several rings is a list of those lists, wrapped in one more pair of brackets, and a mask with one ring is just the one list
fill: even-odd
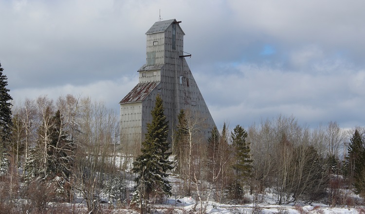
[(365, 126), (364, 0), (0, 0), (0, 63), (15, 103), (90, 96), (119, 114), (146, 31), (177, 19), (217, 127), (279, 114)]

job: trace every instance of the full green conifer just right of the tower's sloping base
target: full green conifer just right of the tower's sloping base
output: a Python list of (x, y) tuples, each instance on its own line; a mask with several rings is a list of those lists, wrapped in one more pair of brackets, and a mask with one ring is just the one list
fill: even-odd
[(232, 132), (232, 145), (234, 148), (233, 170), (234, 198), (239, 198), (244, 181), (250, 176), (252, 161), (250, 157), (250, 143), (246, 142), (247, 132), (240, 125), (237, 125)]

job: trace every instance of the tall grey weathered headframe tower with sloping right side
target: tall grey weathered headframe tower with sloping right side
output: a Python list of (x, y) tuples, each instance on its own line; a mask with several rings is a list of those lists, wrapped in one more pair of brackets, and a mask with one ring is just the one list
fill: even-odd
[[(120, 101), (121, 143), (139, 149), (156, 95), (164, 101), (170, 130), (178, 123), (181, 109), (200, 121), (201, 136), (208, 138), (215, 126), (183, 52), (185, 35), (176, 19), (155, 22), (146, 32), (146, 64), (139, 70), (138, 84)], [(170, 131), (170, 136), (173, 132)], [(170, 138), (171, 141), (171, 138)]]

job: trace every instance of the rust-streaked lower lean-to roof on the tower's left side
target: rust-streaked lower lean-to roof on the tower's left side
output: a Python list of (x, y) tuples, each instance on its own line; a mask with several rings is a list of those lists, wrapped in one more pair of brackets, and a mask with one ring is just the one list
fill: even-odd
[(138, 83), (128, 94), (123, 98), (119, 104), (125, 103), (139, 103), (142, 102), (146, 96), (151, 93), (153, 89), (160, 82)]

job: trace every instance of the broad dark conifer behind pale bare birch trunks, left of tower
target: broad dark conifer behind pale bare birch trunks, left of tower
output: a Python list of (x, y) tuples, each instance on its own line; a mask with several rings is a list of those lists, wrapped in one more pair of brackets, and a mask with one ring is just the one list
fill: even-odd
[(45, 114), (49, 118), (43, 121), (37, 130), (37, 146), (30, 149), (26, 160), (26, 180), (34, 178), (47, 182), (54, 187), (57, 196), (67, 197), (66, 187), (70, 187), (70, 176), (74, 163), (74, 146), (69, 140), (68, 133), (64, 131), (62, 116), (57, 110), (52, 114), (47, 107)]

